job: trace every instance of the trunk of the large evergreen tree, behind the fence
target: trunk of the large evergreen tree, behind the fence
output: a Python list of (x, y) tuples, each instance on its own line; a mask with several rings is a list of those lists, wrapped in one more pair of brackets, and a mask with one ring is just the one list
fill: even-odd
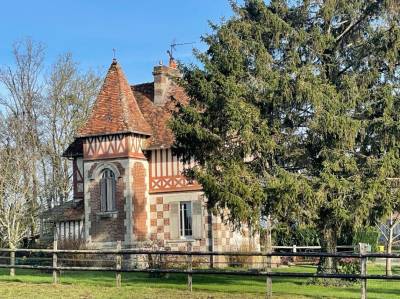
[[(325, 227), (321, 236), (322, 252), (336, 253), (337, 236), (336, 231), (331, 227)], [(321, 257), (318, 264), (319, 273), (337, 273), (337, 261), (333, 257)]]

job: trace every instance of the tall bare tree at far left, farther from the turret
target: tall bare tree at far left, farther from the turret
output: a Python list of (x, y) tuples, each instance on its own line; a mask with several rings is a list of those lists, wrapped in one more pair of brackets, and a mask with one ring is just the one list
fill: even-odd
[[(0, 104), (6, 108), (7, 117), (12, 122), (8, 136), (14, 150), (20, 152), (24, 161), (23, 188), (31, 188), (25, 205), (34, 214), (38, 208), (40, 182), (37, 175), (40, 159), (40, 116), (38, 108), (42, 101), (40, 84), (43, 70), (44, 47), (30, 39), (15, 43), (13, 46), (14, 66), (0, 69), (0, 83), (7, 91)], [(21, 187), (22, 188), (22, 187)], [(30, 234), (34, 235), (37, 228), (36, 217), (27, 218), (31, 221)]]

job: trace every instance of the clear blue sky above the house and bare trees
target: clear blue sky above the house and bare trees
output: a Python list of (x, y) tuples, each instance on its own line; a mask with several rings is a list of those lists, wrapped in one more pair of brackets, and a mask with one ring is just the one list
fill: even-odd
[[(128, 80), (147, 82), (153, 66), (167, 62), (171, 41), (204, 49), (208, 20), (231, 14), (228, 0), (2, 1), (0, 65), (12, 63), (15, 41), (30, 37), (46, 46), (46, 64), (71, 52), (82, 69), (106, 70), (115, 48)], [(175, 56), (194, 61), (193, 46), (178, 47)]]

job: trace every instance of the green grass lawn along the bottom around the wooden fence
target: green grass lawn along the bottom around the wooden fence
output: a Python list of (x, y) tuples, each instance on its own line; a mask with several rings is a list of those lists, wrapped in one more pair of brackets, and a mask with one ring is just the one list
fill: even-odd
[[(311, 266), (280, 268), (284, 272), (314, 272)], [(371, 274), (383, 274), (381, 265), (369, 265)], [(397, 273), (396, 273), (397, 272)], [(400, 273), (400, 268), (395, 269)], [(194, 275), (193, 293), (186, 291), (185, 275), (150, 278), (148, 274), (122, 273), (122, 287), (115, 288), (115, 274), (64, 272), (61, 284), (52, 285), (51, 273), (18, 270), (11, 278), (0, 270), (0, 298), (264, 298), (265, 278)], [(351, 287), (307, 285), (305, 279), (274, 278), (274, 298), (359, 298), (359, 284)], [(399, 298), (400, 281), (368, 281), (368, 298)]]

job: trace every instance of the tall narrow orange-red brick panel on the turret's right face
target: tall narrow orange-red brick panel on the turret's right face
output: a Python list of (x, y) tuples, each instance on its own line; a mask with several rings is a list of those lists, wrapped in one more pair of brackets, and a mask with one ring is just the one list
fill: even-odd
[(133, 232), (137, 240), (147, 237), (147, 199), (146, 199), (146, 169), (143, 164), (136, 162), (133, 165)]

